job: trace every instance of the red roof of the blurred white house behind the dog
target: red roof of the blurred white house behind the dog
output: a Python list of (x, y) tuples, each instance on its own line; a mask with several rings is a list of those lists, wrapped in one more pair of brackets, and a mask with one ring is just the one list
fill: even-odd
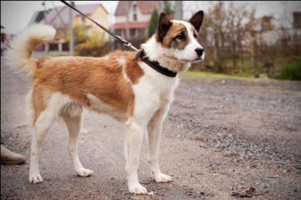
[[(131, 5), (133, 1), (119, 1), (115, 16), (126, 15), (126, 7)], [(140, 12), (144, 15), (152, 14), (155, 10), (158, 3), (156, 1), (136, 1), (137, 8), (139, 8)]]

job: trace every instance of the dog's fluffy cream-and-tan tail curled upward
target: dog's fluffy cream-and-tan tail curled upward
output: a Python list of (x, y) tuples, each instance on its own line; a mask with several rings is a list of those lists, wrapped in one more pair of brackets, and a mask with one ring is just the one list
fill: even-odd
[(32, 77), (37, 60), (31, 58), (35, 48), (54, 39), (56, 30), (48, 25), (35, 24), (15, 36), (10, 48), (4, 53), (7, 64), (20, 74)]

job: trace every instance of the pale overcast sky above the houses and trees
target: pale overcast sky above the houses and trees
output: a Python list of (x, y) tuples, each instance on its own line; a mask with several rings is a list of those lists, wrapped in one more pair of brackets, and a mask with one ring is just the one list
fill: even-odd
[[(1, 1), (1, 25), (2, 30), (8, 34), (21, 32), (29, 24), (35, 11), (44, 10), (44, 1)], [(118, 1), (75, 1), (75, 5), (100, 3), (110, 14), (110, 22), (114, 21), (114, 12)], [(184, 19), (189, 19), (192, 13), (204, 10), (205, 15), (208, 9), (216, 1), (183, 1)], [(244, 4), (245, 1), (237, 1), (236, 5)], [(282, 19), (288, 25), (292, 22), (292, 12), (301, 12), (301, 1), (249, 1), (250, 8), (256, 10), (256, 17), (273, 15), (276, 20)], [(46, 9), (55, 6), (63, 6), (59, 1), (46, 1)]]

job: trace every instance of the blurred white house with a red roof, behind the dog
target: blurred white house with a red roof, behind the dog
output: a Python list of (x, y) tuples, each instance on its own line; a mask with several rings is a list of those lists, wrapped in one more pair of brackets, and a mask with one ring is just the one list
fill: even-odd
[[(161, 1), (119, 1), (115, 11), (115, 24), (111, 30), (126, 39), (145, 38), (153, 11), (162, 11)], [(129, 36), (126, 30), (129, 30)]]

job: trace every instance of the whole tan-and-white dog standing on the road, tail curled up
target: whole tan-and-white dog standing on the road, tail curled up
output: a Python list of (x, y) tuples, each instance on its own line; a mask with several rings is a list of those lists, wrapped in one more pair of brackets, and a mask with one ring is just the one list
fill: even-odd
[(130, 193), (147, 193), (137, 175), (145, 131), (152, 177), (156, 182), (171, 181), (171, 176), (162, 173), (159, 167), (162, 126), (179, 82), (177, 72), (204, 59), (204, 50), (198, 43), (203, 18), (203, 11), (188, 22), (170, 20), (161, 13), (157, 31), (141, 45), (142, 51), (115, 51), (101, 58), (32, 58), (37, 46), (55, 37), (55, 29), (48, 25), (35, 24), (16, 36), (4, 57), (17, 72), (32, 78), (26, 98), (34, 126), (29, 181), (43, 181), (39, 151), (49, 128), (58, 118), (63, 119), (69, 131), (67, 149), (75, 172), (79, 176), (92, 175), (93, 171), (84, 168), (78, 158), (83, 108), (106, 113), (125, 123)]

